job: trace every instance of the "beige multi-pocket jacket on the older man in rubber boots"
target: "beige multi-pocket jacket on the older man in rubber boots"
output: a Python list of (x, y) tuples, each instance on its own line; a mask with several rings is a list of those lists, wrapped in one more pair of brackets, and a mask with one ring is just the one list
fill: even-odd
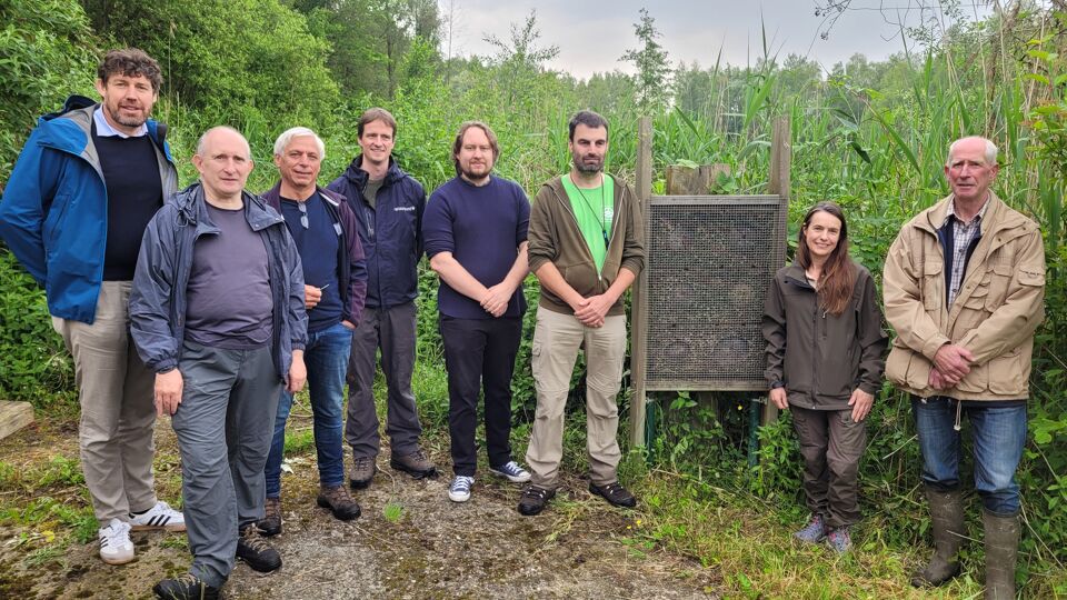
[[(886, 378), (920, 398), (1020, 400), (1029, 397), (1034, 331), (1045, 313), (1045, 247), (1037, 224), (991, 191), (963, 287), (946, 306), (938, 229), (949, 196), (920, 212), (889, 248), (882, 276), (886, 320), (896, 330)], [(929, 386), (937, 350), (956, 343), (975, 357), (955, 387)]]

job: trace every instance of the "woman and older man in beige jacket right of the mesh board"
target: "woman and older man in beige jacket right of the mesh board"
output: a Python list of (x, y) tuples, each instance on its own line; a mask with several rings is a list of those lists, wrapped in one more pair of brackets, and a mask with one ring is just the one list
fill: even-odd
[(953, 142), (951, 193), (904, 224), (882, 273), (885, 320), (870, 273), (848, 257), (840, 207), (814, 206), (794, 264), (767, 293), (762, 331), (769, 400), (790, 409), (811, 518), (795, 537), (851, 547), (859, 521), (865, 419), (882, 370), (911, 399), (930, 506), (934, 557), (911, 577), (939, 586), (959, 573), (967, 539), (959, 473), (960, 424), (970, 420), (975, 489), (983, 504), (986, 598), (1015, 598), (1019, 488), (1034, 332), (1044, 317), (1045, 250), (1037, 224), (990, 189), (997, 147)]

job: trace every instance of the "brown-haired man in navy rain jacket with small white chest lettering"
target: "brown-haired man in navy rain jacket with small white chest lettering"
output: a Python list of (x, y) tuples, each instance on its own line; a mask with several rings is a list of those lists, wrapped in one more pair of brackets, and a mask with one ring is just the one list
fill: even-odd
[(418, 296), (419, 257), (422, 256), (422, 212), (426, 191), (400, 170), (392, 158), (397, 121), (389, 111), (368, 109), (359, 118), (357, 134), (362, 153), (327, 186), (348, 199), (359, 223), (367, 253), (367, 309), (356, 328), (348, 367), (348, 422), (345, 438), (352, 447), (355, 489), (370, 484), (379, 451), (375, 412), (375, 359), (381, 348), (381, 370), (388, 393), (389, 434), (393, 469), (416, 479), (437, 474), (419, 447), (422, 426), (411, 392), (415, 368), (415, 298)]

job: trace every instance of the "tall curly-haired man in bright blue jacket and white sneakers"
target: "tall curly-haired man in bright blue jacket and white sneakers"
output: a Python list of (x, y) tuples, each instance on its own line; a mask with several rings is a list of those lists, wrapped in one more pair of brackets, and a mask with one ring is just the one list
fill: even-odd
[(148, 117), (162, 83), (144, 52), (112, 50), (102, 99), (72, 96), (41, 117), (0, 202), (0, 238), (44, 287), (52, 327), (74, 361), (81, 467), (100, 522), (100, 558), (133, 560), (131, 529), (185, 530), (156, 498), (152, 372), (129, 337), (127, 308), (141, 234), (178, 172)]

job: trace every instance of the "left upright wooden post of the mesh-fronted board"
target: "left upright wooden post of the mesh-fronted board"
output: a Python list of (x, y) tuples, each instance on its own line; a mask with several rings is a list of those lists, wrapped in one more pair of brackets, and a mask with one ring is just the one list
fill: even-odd
[[(648, 199), (652, 196), (652, 119), (641, 117), (637, 130), (637, 198), (640, 202), (645, 239), (648, 240)], [(647, 242), (646, 242), (647, 248)], [(645, 264), (648, 264), (646, 260)], [(630, 304), (630, 442), (645, 446), (645, 376), (648, 360), (648, 278), (642, 272), (634, 282)]]

